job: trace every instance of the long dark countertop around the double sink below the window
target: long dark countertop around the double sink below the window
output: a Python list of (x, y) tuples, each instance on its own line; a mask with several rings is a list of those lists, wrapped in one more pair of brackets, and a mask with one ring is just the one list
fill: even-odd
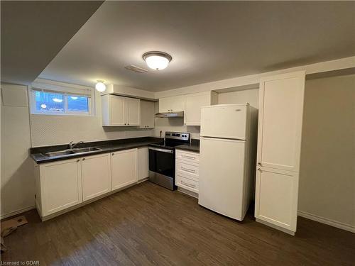
[(89, 153), (74, 153), (69, 155), (60, 155), (56, 157), (48, 157), (42, 153), (53, 152), (57, 150), (65, 150), (69, 148), (69, 145), (55, 145), (55, 146), (45, 146), (45, 147), (36, 147), (31, 148), (29, 153), (32, 159), (40, 164), (44, 162), (54, 162), (58, 160), (67, 160), (77, 157), (84, 157), (90, 155), (97, 155), (101, 153), (112, 153), (119, 150), (129, 150), (133, 148), (140, 148), (148, 146), (149, 144), (161, 143), (164, 141), (163, 138), (153, 138), (153, 137), (144, 137), (144, 138), (125, 138), (121, 140), (105, 140), (105, 141), (94, 141), (87, 142), (77, 145), (75, 148), (87, 148), (87, 147), (97, 147), (101, 150), (95, 150)]

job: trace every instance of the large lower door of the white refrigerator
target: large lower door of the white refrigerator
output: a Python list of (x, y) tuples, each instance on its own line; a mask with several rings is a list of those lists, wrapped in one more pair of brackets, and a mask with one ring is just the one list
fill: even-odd
[(199, 204), (242, 221), (244, 140), (200, 138)]

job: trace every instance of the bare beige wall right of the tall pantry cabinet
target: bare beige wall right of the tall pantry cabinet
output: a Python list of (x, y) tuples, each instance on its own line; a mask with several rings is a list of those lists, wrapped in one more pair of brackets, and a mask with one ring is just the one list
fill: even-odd
[(355, 75), (307, 80), (299, 211), (355, 228)]

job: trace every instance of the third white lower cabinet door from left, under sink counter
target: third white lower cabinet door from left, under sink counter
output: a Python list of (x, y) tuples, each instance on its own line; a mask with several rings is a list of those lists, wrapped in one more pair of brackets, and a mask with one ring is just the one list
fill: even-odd
[(137, 149), (122, 150), (111, 154), (112, 190), (126, 187), (138, 181)]

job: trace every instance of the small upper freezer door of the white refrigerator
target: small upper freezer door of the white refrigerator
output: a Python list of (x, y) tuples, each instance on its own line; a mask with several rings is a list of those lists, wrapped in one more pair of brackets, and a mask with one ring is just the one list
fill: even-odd
[(201, 133), (204, 137), (246, 140), (249, 105), (222, 104), (201, 109)]

